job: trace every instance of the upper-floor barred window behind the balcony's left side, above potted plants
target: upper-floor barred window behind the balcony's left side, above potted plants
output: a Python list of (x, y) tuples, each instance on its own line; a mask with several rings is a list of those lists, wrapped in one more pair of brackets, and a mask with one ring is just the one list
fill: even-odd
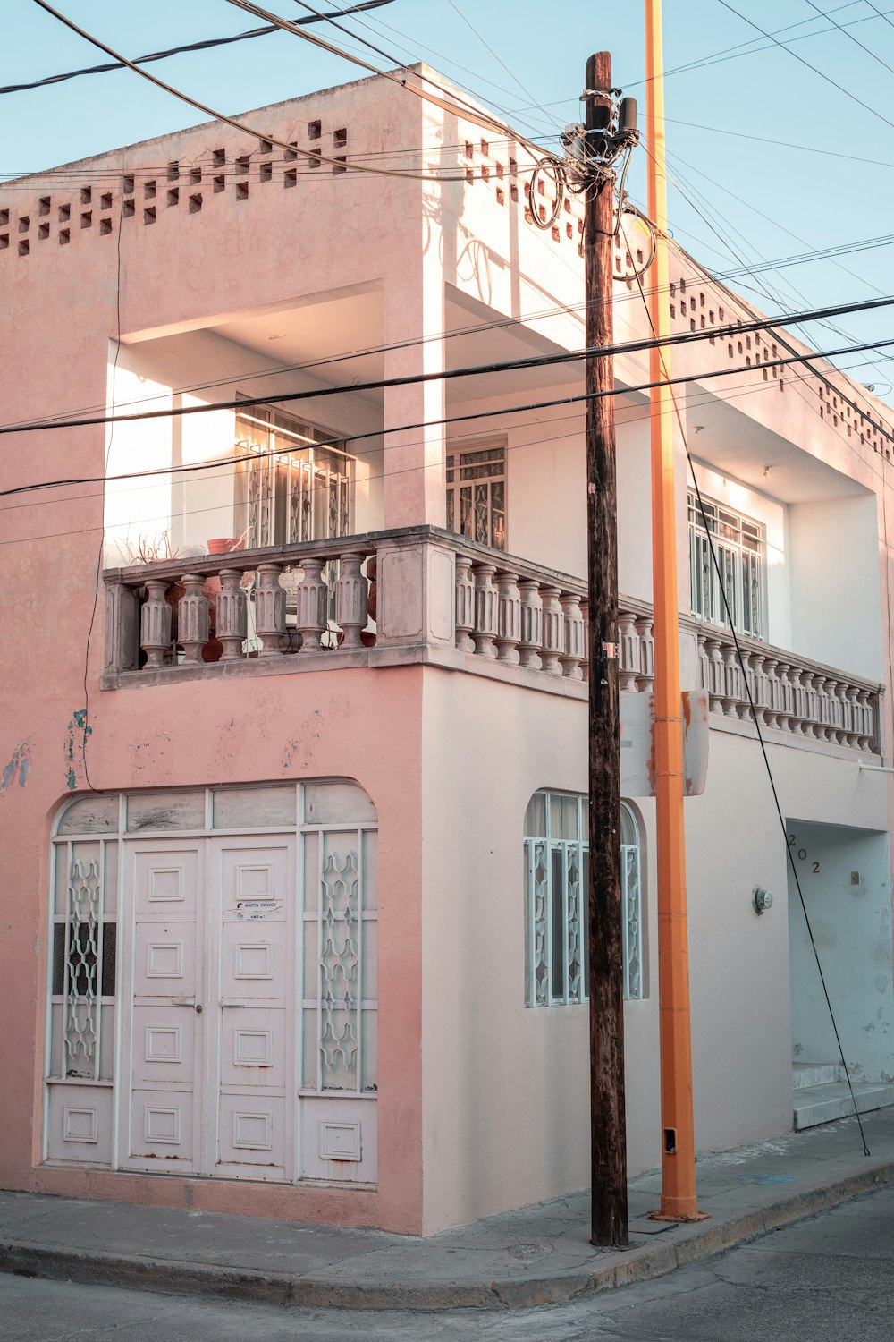
[(332, 435), (245, 404), (236, 416), (236, 439), (243, 458), (237, 526), (247, 549), (350, 534), (353, 458)]

